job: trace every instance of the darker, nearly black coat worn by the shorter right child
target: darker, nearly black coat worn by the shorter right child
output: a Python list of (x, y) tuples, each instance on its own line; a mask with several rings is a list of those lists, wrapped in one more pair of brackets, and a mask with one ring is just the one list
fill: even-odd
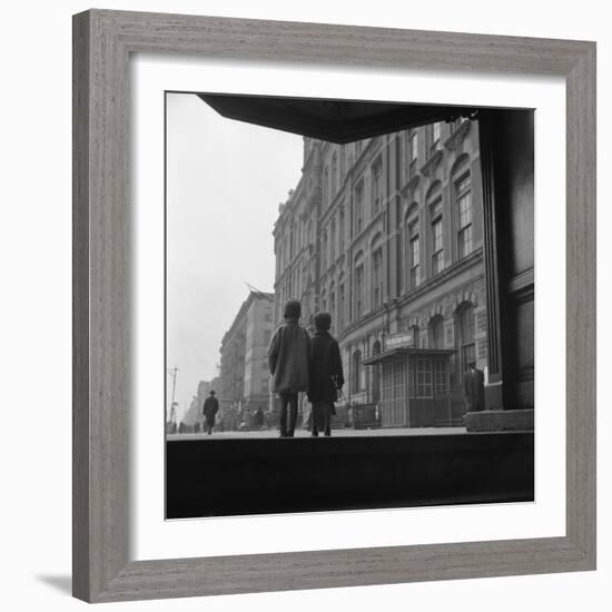
[(344, 385), (340, 349), (328, 332), (317, 332), (310, 340), (309, 402), (336, 402)]

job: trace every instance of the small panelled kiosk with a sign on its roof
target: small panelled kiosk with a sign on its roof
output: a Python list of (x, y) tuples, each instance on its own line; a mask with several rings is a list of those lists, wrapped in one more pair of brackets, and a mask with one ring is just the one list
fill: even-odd
[(379, 368), (383, 427), (448, 427), (453, 423), (451, 356), (417, 348), (409, 334), (389, 337), (385, 351), (363, 362)]

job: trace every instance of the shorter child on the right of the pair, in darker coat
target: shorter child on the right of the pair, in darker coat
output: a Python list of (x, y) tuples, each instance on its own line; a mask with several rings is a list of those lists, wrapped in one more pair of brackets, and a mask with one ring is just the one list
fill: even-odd
[(313, 436), (323, 431), (332, 435), (332, 414), (338, 391), (344, 385), (340, 349), (329, 334), (328, 313), (315, 315), (316, 333), (310, 340), (308, 401), (313, 404)]

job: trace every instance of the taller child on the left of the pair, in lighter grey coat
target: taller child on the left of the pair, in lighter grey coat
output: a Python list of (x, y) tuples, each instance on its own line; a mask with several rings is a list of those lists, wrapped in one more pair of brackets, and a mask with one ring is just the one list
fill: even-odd
[[(297, 418), (297, 394), (308, 388), (308, 332), (299, 325), (302, 306), (285, 305), (285, 325), (274, 334), (268, 348), (268, 366), (274, 393), (280, 397), (280, 437), (293, 437)], [(287, 407), (289, 423), (287, 425)]]

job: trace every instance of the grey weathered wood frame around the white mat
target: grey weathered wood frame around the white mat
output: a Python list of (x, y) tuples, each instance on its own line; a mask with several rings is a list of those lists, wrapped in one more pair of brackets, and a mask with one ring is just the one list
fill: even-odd
[[(132, 52), (565, 77), (565, 536), (129, 561), (126, 296)], [(595, 569), (594, 42), (91, 10), (73, 18), (73, 129), (77, 598), (109, 602)]]

